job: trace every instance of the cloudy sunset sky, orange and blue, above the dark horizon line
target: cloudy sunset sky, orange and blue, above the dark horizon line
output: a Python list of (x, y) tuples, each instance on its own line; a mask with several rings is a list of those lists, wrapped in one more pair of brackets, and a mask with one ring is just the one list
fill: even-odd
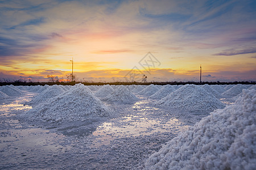
[(256, 80), (256, 1), (1, 1), (0, 81)]

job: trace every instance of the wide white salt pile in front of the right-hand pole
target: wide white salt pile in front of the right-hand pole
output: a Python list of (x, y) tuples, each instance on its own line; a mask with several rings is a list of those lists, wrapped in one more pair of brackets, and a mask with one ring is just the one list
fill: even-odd
[(225, 104), (221, 103), (215, 96), (193, 84), (186, 84), (180, 87), (178, 90), (156, 102), (156, 104), (199, 112), (213, 111), (214, 109), (225, 107)]

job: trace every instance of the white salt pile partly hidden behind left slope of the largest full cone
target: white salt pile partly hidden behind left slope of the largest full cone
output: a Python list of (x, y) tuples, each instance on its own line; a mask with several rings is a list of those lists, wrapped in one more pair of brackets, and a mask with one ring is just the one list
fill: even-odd
[(27, 104), (30, 104), (30, 105), (40, 104), (44, 101), (47, 101), (55, 96), (62, 94), (63, 92), (65, 91), (60, 86), (57, 86), (57, 85), (49, 86), (46, 90), (44, 90), (42, 93), (34, 97)]

